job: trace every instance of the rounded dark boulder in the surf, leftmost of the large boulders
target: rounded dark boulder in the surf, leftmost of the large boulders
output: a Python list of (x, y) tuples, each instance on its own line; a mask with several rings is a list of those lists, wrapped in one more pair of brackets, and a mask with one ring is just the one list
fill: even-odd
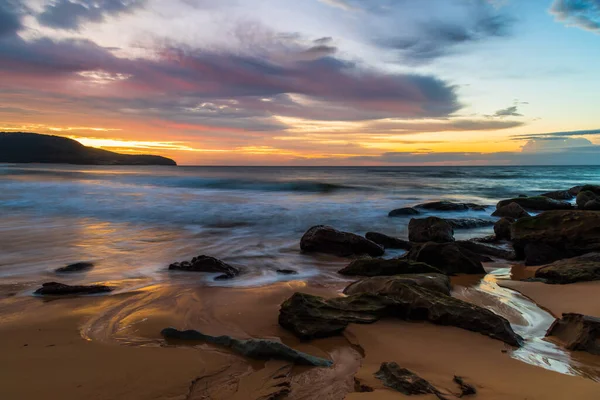
[(368, 254), (373, 257), (383, 255), (382, 246), (362, 236), (341, 232), (330, 226), (317, 225), (310, 228), (300, 240), (300, 248), (307, 253), (319, 252), (341, 257)]

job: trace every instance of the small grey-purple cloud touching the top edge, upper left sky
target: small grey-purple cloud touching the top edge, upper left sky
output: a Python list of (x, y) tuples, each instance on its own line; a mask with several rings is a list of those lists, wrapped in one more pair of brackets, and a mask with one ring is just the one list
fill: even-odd
[(146, 0), (56, 0), (37, 16), (40, 24), (57, 29), (76, 30), (86, 22), (102, 22), (141, 7)]

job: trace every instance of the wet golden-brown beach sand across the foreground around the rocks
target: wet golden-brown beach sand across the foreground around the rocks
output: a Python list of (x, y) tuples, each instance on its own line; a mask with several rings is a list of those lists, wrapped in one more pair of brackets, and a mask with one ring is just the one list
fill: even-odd
[[(384, 361), (411, 369), (447, 393), (457, 392), (452, 378), (460, 375), (478, 389), (474, 398), (600, 396), (597, 382), (525, 364), (511, 358), (505, 344), (458, 328), (385, 320), (351, 325), (344, 336), (300, 342), (278, 325), (279, 304), (295, 291), (330, 297), (343, 286), (295, 281), (255, 289), (151, 286), (129, 294), (52, 301), (5, 297), (0, 300), (0, 398), (265, 399), (282, 383), (291, 388), (289, 399), (404, 398), (373, 377)], [(598, 289), (588, 286), (589, 293)], [(536, 290), (560, 298), (560, 288)], [(583, 307), (590, 302), (580, 296), (570, 303)], [(212, 345), (168, 346), (159, 334), (167, 326), (237, 338), (281, 338), (335, 365), (292, 368), (246, 360)], [(355, 393), (355, 375), (375, 392)]]

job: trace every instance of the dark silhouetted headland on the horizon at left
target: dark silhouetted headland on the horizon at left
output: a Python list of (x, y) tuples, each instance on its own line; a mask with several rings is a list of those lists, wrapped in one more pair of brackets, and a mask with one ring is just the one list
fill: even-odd
[(0, 162), (79, 165), (177, 165), (161, 156), (119, 154), (61, 136), (0, 132)]

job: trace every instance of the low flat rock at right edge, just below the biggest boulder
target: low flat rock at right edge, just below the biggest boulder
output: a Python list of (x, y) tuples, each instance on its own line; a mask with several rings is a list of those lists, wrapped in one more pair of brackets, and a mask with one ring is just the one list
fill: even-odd
[(600, 253), (589, 253), (583, 256), (556, 261), (540, 267), (535, 277), (545, 283), (568, 284), (575, 282), (600, 280)]

